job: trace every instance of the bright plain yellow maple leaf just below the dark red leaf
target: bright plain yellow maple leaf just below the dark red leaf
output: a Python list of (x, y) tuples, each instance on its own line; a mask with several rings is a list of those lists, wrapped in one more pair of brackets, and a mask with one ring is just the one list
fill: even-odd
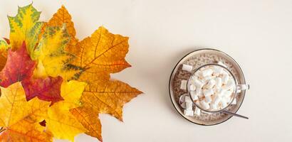
[(85, 85), (84, 82), (75, 80), (63, 82), (61, 96), (64, 100), (53, 104), (48, 109), (48, 117), (45, 119), (47, 129), (54, 137), (74, 141), (78, 133), (86, 131), (70, 112), (70, 109), (80, 106), (80, 97)]

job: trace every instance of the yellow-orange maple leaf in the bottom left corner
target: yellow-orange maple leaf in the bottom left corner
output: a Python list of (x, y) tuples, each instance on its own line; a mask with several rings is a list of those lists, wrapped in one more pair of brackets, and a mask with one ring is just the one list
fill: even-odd
[(1, 87), (1, 94), (0, 141), (52, 141), (51, 133), (38, 124), (46, 117), (49, 102), (37, 98), (26, 102), (20, 82)]

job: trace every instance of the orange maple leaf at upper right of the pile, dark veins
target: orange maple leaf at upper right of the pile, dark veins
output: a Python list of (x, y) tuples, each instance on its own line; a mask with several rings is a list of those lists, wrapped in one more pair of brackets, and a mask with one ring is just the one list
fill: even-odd
[(85, 68), (86, 72), (120, 72), (130, 67), (125, 61), (129, 48), (127, 40), (127, 37), (114, 35), (100, 27), (78, 43), (79, 50), (73, 53), (77, 57), (74, 64)]

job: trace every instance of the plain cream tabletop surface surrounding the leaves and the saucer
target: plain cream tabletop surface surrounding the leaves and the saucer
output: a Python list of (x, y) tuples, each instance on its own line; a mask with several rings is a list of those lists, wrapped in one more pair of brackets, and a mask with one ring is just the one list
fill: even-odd
[[(1, 0), (0, 36), (6, 15), (29, 1)], [(64, 4), (78, 38), (105, 26), (130, 36), (132, 67), (113, 75), (145, 94), (125, 105), (124, 123), (101, 115), (104, 141), (292, 141), (292, 1), (122, 0), (33, 1), (48, 20)], [(251, 84), (240, 114), (217, 126), (198, 126), (174, 110), (168, 94), (172, 68), (186, 53), (216, 48), (241, 65)], [(80, 135), (76, 141), (97, 141)]]

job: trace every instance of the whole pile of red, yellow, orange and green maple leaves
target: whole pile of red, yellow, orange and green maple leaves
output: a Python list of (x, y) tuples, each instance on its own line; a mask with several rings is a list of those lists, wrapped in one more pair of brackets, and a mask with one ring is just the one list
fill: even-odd
[(78, 40), (64, 6), (48, 22), (30, 4), (8, 16), (0, 40), (0, 141), (74, 141), (86, 133), (102, 141), (98, 114), (122, 121), (122, 107), (139, 90), (110, 74), (125, 61), (127, 37), (100, 27)]

